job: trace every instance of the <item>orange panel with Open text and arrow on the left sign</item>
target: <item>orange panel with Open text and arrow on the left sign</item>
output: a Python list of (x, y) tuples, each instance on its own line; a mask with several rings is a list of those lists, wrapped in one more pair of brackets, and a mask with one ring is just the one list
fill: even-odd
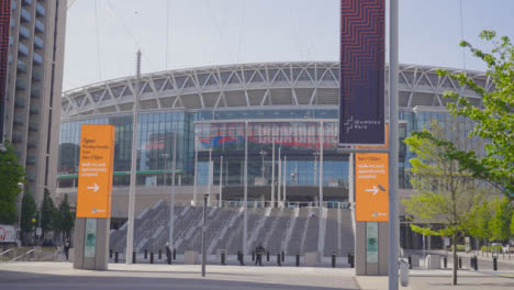
[(77, 217), (111, 217), (114, 126), (82, 125)]

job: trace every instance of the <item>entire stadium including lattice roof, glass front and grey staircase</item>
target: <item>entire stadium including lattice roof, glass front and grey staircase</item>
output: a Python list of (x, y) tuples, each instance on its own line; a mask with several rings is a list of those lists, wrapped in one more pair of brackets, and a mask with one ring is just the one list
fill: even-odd
[[(467, 75), (490, 89), (483, 72)], [(203, 194), (213, 205), (212, 227), (219, 228), (208, 243), (210, 253), (239, 249), (246, 145), (249, 248), (265, 243), (276, 252), (287, 249), (288, 255), (315, 248), (327, 255), (353, 252), (351, 161), (337, 149), (338, 79), (336, 62), (239, 64), (143, 75), (136, 248), (164, 245), (166, 201), (175, 180), (174, 244), (182, 245), (178, 250), (199, 246), (200, 223), (194, 219), (200, 219), (201, 211), (194, 205)], [(433, 120), (449, 124), (444, 91), (458, 91), (473, 104), (481, 102), (474, 91), (439, 77), (435, 67), (401, 65), (399, 81), (401, 140)], [(134, 77), (109, 80), (66, 91), (62, 99), (56, 202), (65, 194), (76, 202), (80, 125), (114, 125), (112, 225), (120, 230), (111, 234), (111, 246), (118, 248), (123, 247), (126, 233), (122, 225), (127, 216), (135, 83)], [(467, 134), (472, 124), (460, 121), (459, 132)], [(400, 197), (411, 191), (411, 157), (401, 142)], [(324, 210), (317, 212), (320, 198)], [(420, 247), (416, 234), (404, 225), (401, 231), (402, 247)], [(322, 234), (324, 238), (316, 239)]]

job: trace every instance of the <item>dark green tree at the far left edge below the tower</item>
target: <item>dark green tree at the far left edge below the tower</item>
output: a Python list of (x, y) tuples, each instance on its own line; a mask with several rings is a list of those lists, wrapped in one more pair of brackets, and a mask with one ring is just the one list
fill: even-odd
[(0, 223), (13, 224), (18, 221), (16, 197), (21, 192), (19, 182), (24, 182), (25, 170), (18, 163), (12, 145), (4, 143), (0, 150)]

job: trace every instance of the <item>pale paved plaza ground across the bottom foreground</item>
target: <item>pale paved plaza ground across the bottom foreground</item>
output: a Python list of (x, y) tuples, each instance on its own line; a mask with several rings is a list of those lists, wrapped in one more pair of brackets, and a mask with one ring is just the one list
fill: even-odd
[[(108, 271), (75, 270), (69, 263), (0, 264), (1, 289), (388, 289), (388, 277), (355, 277), (349, 268), (110, 264)], [(411, 270), (400, 289), (514, 289), (514, 270)]]

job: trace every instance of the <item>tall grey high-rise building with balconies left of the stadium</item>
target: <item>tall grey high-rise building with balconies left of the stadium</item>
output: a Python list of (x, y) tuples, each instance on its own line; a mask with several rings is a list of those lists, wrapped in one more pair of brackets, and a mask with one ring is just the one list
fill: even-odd
[(56, 183), (67, 0), (9, 1), (0, 132), (25, 167), (25, 192), (41, 202)]

